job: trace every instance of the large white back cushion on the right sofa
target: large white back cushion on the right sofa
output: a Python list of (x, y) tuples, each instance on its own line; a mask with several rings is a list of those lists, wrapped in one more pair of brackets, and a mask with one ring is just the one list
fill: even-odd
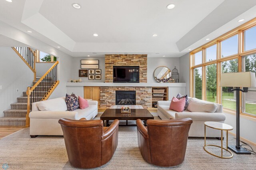
[(214, 113), (217, 109), (217, 105), (209, 103), (200, 99), (192, 98), (189, 105), (188, 111), (190, 112), (210, 112)]

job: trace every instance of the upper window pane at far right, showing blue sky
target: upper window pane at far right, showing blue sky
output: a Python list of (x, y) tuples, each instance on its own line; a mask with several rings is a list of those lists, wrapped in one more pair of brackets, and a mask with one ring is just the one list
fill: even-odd
[(256, 48), (256, 26), (244, 32), (244, 50)]

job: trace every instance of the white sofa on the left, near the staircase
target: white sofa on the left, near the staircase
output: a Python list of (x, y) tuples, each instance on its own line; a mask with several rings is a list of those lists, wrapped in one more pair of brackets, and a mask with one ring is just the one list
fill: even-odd
[(76, 109), (74, 111), (68, 111), (65, 97), (32, 103), (32, 111), (29, 113), (30, 136), (63, 135), (58, 123), (61, 118), (93, 119), (98, 114), (98, 101), (88, 101), (88, 103), (89, 107), (86, 109)]

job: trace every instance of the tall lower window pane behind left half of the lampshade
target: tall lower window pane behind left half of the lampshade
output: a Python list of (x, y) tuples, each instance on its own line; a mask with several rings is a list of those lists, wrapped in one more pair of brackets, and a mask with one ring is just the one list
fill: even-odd
[[(238, 59), (232, 59), (221, 63), (222, 73), (238, 72)], [(236, 110), (236, 91), (230, 92), (232, 87), (222, 87), (222, 105), (224, 108)]]

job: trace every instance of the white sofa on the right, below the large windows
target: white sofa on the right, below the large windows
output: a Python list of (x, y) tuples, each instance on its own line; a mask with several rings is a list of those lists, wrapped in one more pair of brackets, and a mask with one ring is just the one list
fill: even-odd
[[(189, 101), (191, 102), (192, 98), (189, 97)], [(200, 100), (201, 101), (201, 100)], [(206, 103), (211, 103), (207, 101), (203, 101)], [(222, 113), (222, 105), (214, 103), (217, 105), (217, 109), (214, 113), (209, 112), (201, 112), (204, 107), (198, 107), (198, 112), (190, 112), (185, 110), (183, 112), (176, 112), (174, 110), (169, 110), (171, 101), (158, 101), (157, 114), (163, 119), (182, 119), (182, 118), (191, 118), (193, 123), (190, 127), (188, 136), (190, 137), (204, 137), (204, 122), (206, 121), (214, 121), (214, 122), (225, 122), (225, 115)], [(194, 109), (195, 110), (195, 109)], [(224, 133), (225, 134), (225, 133)], [(206, 127), (206, 137), (221, 137), (220, 130), (212, 129)]]

